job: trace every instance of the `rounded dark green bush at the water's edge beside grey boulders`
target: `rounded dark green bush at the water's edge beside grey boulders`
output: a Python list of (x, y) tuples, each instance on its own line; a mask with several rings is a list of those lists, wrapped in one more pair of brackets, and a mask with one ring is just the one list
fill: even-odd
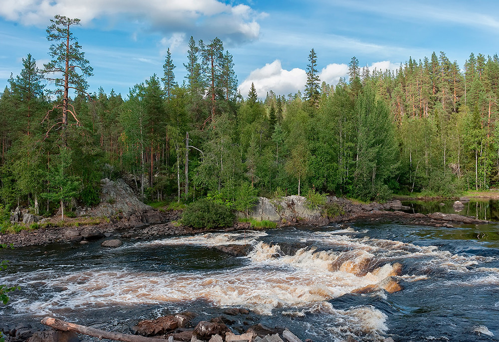
[(232, 226), (234, 219), (235, 215), (227, 206), (205, 198), (184, 209), (182, 224), (194, 228), (222, 228)]

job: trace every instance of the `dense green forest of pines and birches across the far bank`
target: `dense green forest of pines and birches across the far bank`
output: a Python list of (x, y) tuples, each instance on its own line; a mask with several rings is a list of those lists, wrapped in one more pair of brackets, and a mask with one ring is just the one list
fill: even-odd
[(128, 94), (87, 93), (79, 20), (51, 21), (51, 61), (39, 69), (28, 54), (0, 94), (2, 212), (95, 205), (105, 177), (144, 201), (208, 197), (237, 210), (256, 195), (383, 200), (498, 186), (497, 54), (459, 66), (434, 52), (396, 72), (353, 57), (331, 86), (311, 49), (303, 93), (241, 94), (223, 42), (191, 37), (186, 64), (168, 50), (163, 70)]

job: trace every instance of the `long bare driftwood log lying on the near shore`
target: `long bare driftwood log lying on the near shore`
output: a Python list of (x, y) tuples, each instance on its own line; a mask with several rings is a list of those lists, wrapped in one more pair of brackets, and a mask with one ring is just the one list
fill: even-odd
[[(89, 328), (85, 326), (80, 326), (78, 324), (64, 322), (52, 317), (45, 317), (43, 320), (41, 320), (41, 324), (57, 330), (71, 331), (78, 334), (96, 337), (99, 340), (107, 339), (107, 340), (124, 341), (124, 342), (158, 342), (158, 339), (151, 339), (139, 335), (106, 332), (100, 329)], [(173, 341), (173, 339), (169, 339), (168, 341), (171, 342)]]

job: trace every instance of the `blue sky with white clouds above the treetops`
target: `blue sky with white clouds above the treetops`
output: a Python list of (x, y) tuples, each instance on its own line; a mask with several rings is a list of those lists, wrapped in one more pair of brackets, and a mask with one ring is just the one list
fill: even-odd
[(462, 67), (470, 53), (499, 50), (495, 0), (0, 0), (0, 91), (28, 53), (49, 61), (46, 27), (55, 14), (81, 19), (73, 29), (99, 87), (123, 96), (153, 74), (163, 75), (168, 48), (176, 81), (186, 75), (191, 36), (219, 37), (233, 55), (239, 89), (259, 97), (303, 91), (313, 48), (321, 81), (361, 67), (396, 70), (400, 63), (444, 51)]

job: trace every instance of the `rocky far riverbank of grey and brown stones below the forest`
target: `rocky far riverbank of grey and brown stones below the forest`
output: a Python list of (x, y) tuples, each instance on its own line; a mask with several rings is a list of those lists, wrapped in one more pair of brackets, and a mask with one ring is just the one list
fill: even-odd
[[(328, 225), (363, 222), (393, 222), (409, 225), (427, 225), (435, 227), (453, 227), (455, 224), (486, 224), (489, 221), (479, 220), (458, 214), (443, 213), (408, 213), (402, 211), (399, 200), (393, 200), (384, 204), (380, 203), (354, 203), (345, 198), (330, 197), (328, 204), (335, 206), (335, 215), (327, 215), (326, 210), (309, 210), (299, 204), (298, 200), (304, 201), (304, 197), (289, 196), (288, 202), (283, 200), (276, 206), (286, 205), (286, 210), (282, 217), (275, 216), (277, 227), (293, 225)], [(268, 200), (267, 200), (268, 201)], [(290, 203), (293, 203), (291, 207)], [(266, 203), (268, 205), (268, 203)], [(265, 205), (263, 206), (265, 207)], [(253, 217), (262, 219), (263, 211), (256, 209)], [(267, 208), (268, 210), (268, 208)], [(304, 213), (304, 210), (308, 214)], [(275, 211), (275, 209), (274, 209)], [(258, 216), (259, 215), (259, 216)], [(263, 216), (262, 216), (263, 215)], [(87, 243), (94, 240), (109, 239), (147, 239), (151, 237), (171, 236), (171, 235), (192, 235), (206, 232), (206, 229), (194, 229), (183, 226), (179, 223), (181, 211), (179, 210), (157, 210), (146, 209), (130, 215), (118, 214), (111, 218), (102, 220), (99, 224), (70, 226), (44, 226), (35, 230), (21, 230), (15, 234), (0, 234), (0, 243), (12, 244), (14, 247), (26, 247), (33, 245), (47, 245), (53, 243)], [(266, 219), (266, 218), (265, 218)], [(82, 222), (85, 222), (84, 220)], [(236, 221), (233, 226), (224, 228), (225, 231), (242, 229), (253, 229), (249, 222)], [(219, 229), (220, 230), (220, 229)], [(260, 229), (255, 229), (260, 230)]]

